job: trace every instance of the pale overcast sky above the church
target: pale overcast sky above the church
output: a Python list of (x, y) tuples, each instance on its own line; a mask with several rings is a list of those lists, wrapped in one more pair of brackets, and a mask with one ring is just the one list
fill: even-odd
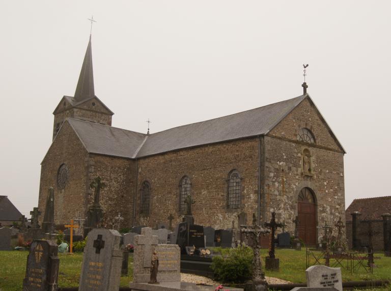
[(93, 26), (95, 94), (151, 132), (308, 92), (344, 146), (346, 207), (391, 195), (389, 1), (0, 0), (0, 195), (38, 206), (52, 112), (73, 96)]

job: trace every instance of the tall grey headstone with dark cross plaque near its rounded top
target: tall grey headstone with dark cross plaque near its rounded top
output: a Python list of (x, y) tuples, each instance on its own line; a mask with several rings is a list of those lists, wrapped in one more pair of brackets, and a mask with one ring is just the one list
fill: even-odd
[(122, 250), (117, 230), (95, 228), (87, 238), (81, 266), (79, 291), (118, 291)]

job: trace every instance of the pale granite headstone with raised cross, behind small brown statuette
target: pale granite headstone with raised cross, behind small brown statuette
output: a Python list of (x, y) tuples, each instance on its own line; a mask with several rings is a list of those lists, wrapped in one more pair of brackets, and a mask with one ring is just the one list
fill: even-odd
[(142, 234), (134, 238), (133, 282), (149, 282), (153, 251), (159, 257), (158, 282), (180, 281), (180, 248), (177, 245), (158, 245), (158, 237), (152, 228), (144, 227)]

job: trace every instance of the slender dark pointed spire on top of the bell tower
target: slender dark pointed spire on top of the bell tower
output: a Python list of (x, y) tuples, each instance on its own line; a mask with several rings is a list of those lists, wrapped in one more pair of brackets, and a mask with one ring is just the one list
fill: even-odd
[(95, 96), (94, 73), (92, 70), (92, 50), (91, 50), (91, 35), (90, 35), (90, 41), (88, 42), (86, 55), (84, 56), (83, 65), (81, 67), (74, 100), (82, 101), (86, 98), (94, 97), (94, 96)]

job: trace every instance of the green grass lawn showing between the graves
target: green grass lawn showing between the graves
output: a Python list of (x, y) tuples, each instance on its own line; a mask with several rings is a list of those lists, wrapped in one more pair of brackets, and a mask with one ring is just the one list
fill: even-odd
[[(25, 275), (27, 251), (0, 251), (0, 290), (20, 291)], [(262, 250), (262, 258), (267, 250)], [(305, 283), (305, 250), (277, 249), (276, 257), (280, 258), (280, 272), (266, 271), (266, 276), (277, 277), (295, 283)], [(391, 257), (376, 253), (373, 274), (361, 270), (360, 273), (350, 274), (342, 270), (344, 281), (391, 279)], [(76, 287), (79, 284), (82, 253), (59, 254), (60, 258), (60, 287)], [(121, 277), (121, 286), (126, 287), (132, 281), (133, 257), (129, 256), (129, 276)], [(332, 263), (332, 260), (331, 260)]]

